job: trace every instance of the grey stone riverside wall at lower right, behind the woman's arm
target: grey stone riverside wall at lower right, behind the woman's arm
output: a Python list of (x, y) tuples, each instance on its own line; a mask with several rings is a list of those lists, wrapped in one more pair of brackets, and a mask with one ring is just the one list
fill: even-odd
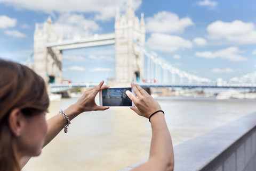
[[(130, 170), (147, 159), (122, 170)], [(174, 170), (256, 170), (256, 113), (174, 147)]]

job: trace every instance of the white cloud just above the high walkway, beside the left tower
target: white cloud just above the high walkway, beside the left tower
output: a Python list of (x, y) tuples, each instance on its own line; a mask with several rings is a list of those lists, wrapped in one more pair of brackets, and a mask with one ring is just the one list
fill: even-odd
[(93, 32), (100, 30), (100, 26), (92, 20), (87, 20), (82, 14), (60, 14), (59, 19), (53, 22), (55, 31), (62, 32), (63, 35), (78, 33), (81, 36), (92, 35)]

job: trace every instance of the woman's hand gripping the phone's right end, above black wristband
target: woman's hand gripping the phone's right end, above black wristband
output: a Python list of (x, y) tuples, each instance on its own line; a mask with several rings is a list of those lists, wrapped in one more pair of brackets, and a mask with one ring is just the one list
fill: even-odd
[(126, 95), (133, 101), (135, 106), (131, 109), (140, 116), (149, 118), (151, 114), (157, 110), (161, 110), (161, 106), (158, 102), (151, 97), (146, 90), (142, 89), (138, 84), (131, 83), (131, 87), (137, 96), (137, 98), (129, 90), (126, 91)]

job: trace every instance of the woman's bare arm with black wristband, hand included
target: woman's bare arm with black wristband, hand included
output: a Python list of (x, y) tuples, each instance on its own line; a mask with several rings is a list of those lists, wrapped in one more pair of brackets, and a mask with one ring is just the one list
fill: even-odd
[[(131, 92), (126, 94), (131, 98), (136, 107), (131, 107), (140, 116), (149, 118), (157, 110), (161, 110), (158, 102), (153, 99), (139, 85), (131, 84), (137, 98)], [(152, 139), (150, 146), (149, 159), (146, 163), (135, 167), (133, 170), (173, 170), (174, 156), (172, 139), (167, 128), (162, 112), (158, 112), (150, 118), (152, 127)]]

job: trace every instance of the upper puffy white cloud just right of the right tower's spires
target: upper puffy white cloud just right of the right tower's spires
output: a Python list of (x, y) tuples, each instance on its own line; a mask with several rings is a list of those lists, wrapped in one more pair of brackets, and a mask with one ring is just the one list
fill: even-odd
[(182, 32), (186, 27), (194, 25), (190, 18), (179, 19), (177, 14), (162, 11), (158, 12), (153, 18), (146, 18), (147, 32)]

